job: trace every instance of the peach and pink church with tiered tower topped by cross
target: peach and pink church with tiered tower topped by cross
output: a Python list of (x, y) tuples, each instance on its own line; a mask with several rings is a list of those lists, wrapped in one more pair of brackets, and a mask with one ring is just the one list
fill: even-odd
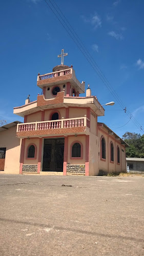
[[(85, 93), (73, 66), (61, 65), (37, 75), (42, 94), (13, 113), (24, 117), (0, 127), (0, 173), (100, 175), (126, 172), (126, 144), (104, 123), (105, 109)], [(81, 96), (82, 95), (82, 96)]]

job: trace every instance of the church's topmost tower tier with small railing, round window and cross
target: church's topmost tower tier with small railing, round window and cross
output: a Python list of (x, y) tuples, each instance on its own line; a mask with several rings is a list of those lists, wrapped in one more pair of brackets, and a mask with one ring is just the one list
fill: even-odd
[(65, 91), (65, 96), (78, 97), (79, 93), (85, 92), (85, 82), (80, 82), (75, 76), (73, 66), (64, 65), (64, 57), (68, 53), (61, 50), (61, 64), (53, 68), (52, 73), (37, 76), (37, 86), (43, 89), (45, 99), (54, 99), (58, 92)]

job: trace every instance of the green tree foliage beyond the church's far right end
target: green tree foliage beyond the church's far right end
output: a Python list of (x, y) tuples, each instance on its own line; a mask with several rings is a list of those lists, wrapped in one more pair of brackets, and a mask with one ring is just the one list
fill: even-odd
[(127, 157), (144, 157), (144, 134), (141, 136), (135, 132), (126, 132), (122, 139), (129, 144), (126, 148)]

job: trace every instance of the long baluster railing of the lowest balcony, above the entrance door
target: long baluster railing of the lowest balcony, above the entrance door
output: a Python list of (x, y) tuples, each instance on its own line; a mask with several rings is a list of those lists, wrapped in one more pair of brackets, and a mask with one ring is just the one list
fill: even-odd
[(17, 124), (17, 132), (21, 131), (37, 131), (49, 130), (60, 128), (73, 128), (73, 127), (90, 127), (90, 120), (87, 116), (73, 118), (73, 119), (60, 119), (54, 121), (42, 121), (33, 123)]

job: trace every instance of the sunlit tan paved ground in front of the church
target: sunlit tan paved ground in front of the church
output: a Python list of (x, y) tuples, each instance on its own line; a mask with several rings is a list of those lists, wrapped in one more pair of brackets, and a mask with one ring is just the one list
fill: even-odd
[(144, 255), (144, 177), (0, 181), (1, 255)]

